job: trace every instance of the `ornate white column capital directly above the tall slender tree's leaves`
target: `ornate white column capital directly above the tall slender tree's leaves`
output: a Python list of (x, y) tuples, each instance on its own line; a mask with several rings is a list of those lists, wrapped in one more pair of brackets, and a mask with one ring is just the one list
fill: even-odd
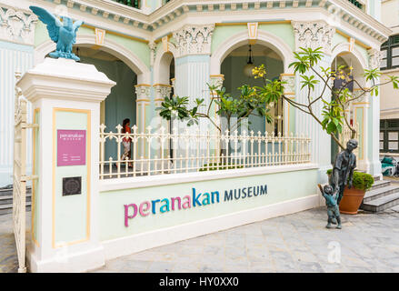
[(326, 22), (320, 21), (293, 21), (295, 34), (295, 50), (300, 47), (315, 49), (322, 47), (324, 54), (331, 55), (332, 40), (335, 28)]

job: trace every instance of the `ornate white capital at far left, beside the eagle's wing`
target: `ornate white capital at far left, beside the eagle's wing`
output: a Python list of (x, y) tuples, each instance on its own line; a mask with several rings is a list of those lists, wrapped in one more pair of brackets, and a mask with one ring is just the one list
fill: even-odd
[(0, 7), (0, 40), (23, 45), (35, 44), (36, 15)]

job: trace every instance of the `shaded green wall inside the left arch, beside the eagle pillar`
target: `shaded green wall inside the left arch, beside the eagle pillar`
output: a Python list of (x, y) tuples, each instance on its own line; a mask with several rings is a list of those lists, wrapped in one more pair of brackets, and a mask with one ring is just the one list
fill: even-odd
[[(122, 125), (125, 118), (130, 119), (130, 125), (136, 123), (135, 85), (137, 75), (122, 61), (105, 61), (95, 58), (81, 57), (82, 63), (95, 65), (116, 85), (105, 99), (105, 132), (116, 132), (116, 125)], [(117, 157), (117, 147), (114, 142), (105, 143), (105, 160), (110, 156)]]

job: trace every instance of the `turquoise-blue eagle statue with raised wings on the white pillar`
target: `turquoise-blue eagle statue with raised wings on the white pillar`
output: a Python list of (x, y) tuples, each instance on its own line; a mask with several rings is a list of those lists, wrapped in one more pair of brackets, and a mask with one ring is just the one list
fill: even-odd
[(29, 6), (29, 8), (39, 17), (39, 19), (47, 25), (48, 35), (56, 44), (56, 50), (49, 55), (53, 58), (66, 58), (80, 61), (80, 58), (72, 53), (72, 45), (76, 43), (76, 32), (83, 21), (72, 21), (71, 18), (61, 16), (61, 20), (47, 10)]

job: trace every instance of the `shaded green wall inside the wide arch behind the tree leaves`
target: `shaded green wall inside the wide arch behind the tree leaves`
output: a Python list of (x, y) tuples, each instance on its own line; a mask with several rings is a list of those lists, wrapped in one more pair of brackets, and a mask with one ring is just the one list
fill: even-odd
[[(244, 75), (244, 66), (247, 63), (246, 56), (228, 56), (224, 59), (221, 67), (221, 74), (224, 75), (224, 87), (227, 93), (230, 93), (234, 97), (240, 96), (240, 90), (238, 87), (241, 85), (257, 85), (262, 86), (264, 82), (262, 79), (254, 79), (254, 77), (247, 77)], [(281, 60), (277, 60), (265, 56), (254, 56), (254, 65), (262, 65), (266, 67), (266, 78), (273, 80), (279, 78), (284, 73), (284, 64)], [(255, 133), (261, 131), (264, 134), (265, 131), (265, 120), (263, 117), (250, 116), (249, 121), (251, 122), (250, 130), (254, 130)]]

